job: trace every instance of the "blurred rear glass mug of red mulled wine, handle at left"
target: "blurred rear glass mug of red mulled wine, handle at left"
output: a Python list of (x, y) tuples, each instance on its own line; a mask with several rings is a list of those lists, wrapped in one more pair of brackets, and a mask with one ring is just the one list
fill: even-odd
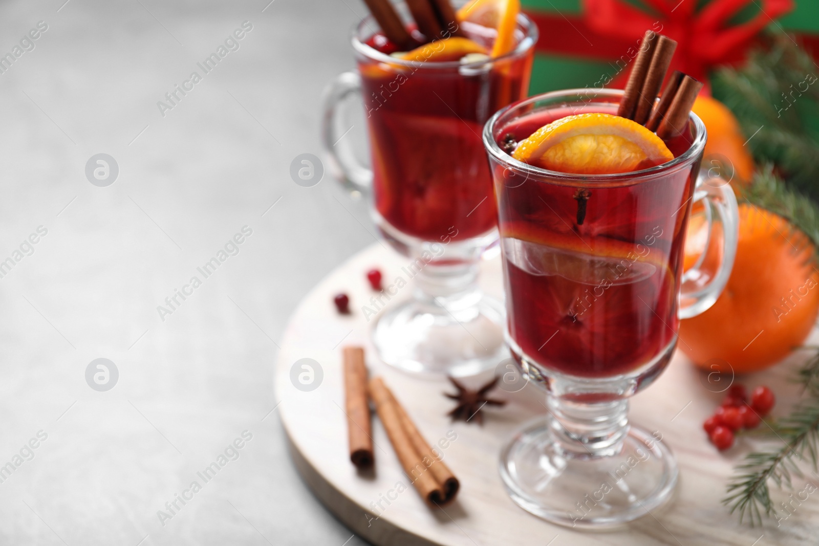
[[(406, 17), (405, 5), (398, 8)], [(537, 29), (520, 15), (513, 52), (436, 62), (424, 57), (440, 41), (417, 59), (399, 59), (378, 50), (377, 28), (368, 17), (355, 29), (358, 71), (336, 79), (324, 111), (324, 147), (333, 166), (351, 189), (372, 191), (373, 221), (409, 258), (402, 282), (385, 282), (391, 286), (378, 301), (385, 304), (410, 279), (412, 297), (387, 306), (373, 344), (384, 362), (410, 372), (473, 375), (494, 367), (506, 351), (503, 305), (477, 286), (479, 260), (498, 241), (482, 127), (526, 96)], [(476, 41), (491, 39), (478, 25), (464, 22), (462, 30)], [(343, 138), (346, 98), (353, 94), (364, 98), (372, 169)]]

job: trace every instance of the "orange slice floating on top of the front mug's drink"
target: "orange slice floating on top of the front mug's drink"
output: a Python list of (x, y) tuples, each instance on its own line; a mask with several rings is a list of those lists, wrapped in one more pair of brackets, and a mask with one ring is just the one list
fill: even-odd
[(567, 115), (521, 142), (512, 156), (543, 169), (613, 174), (648, 169), (674, 159), (656, 134), (611, 114)]

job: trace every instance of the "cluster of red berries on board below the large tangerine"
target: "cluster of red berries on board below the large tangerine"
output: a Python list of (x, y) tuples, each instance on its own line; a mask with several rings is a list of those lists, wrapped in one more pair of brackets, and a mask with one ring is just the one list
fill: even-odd
[(775, 402), (773, 392), (767, 386), (758, 386), (752, 390), (749, 403), (745, 387), (731, 385), (722, 405), (705, 420), (703, 428), (717, 449), (728, 449), (734, 444), (734, 433), (740, 428), (751, 429), (758, 426), (762, 417), (771, 412)]

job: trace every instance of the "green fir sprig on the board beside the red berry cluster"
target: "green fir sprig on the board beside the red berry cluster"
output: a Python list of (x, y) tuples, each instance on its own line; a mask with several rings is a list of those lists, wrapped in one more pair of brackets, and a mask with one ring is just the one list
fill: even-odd
[(791, 488), (792, 476), (803, 477), (798, 463), (808, 461), (817, 472), (819, 446), (819, 398), (812, 397), (798, 404), (788, 417), (783, 417), (776, 435), (785, 443), (775, 451), (758, 451), (745, 456), (728, 483), (727, 496), (722, 499), (731, 513), (739, 512), (740, 522), (746, 517), (751, 525), (762, 524), (762, 516), (776, 517), (778, 512), (771, 500), (768, 485)]

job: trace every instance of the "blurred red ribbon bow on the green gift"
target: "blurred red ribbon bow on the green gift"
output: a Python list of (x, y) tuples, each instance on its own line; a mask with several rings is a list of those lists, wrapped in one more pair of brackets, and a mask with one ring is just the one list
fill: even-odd
[[(639, 43), (647, 29), (677, 42), (671, 70), (706, 81), (714, 65), (741, 61), (758, 32), (794, 7), (793, 0), (712, 0), (695, 12), (696, 0), (643, 0), (650, 15), (623, 0), (583, 0), (586, 24), (595, 32)], [(742, 8), (758, 6), (753, 19), (726, 26)], [(761, 5), (760, 5), (761, 4)]]

